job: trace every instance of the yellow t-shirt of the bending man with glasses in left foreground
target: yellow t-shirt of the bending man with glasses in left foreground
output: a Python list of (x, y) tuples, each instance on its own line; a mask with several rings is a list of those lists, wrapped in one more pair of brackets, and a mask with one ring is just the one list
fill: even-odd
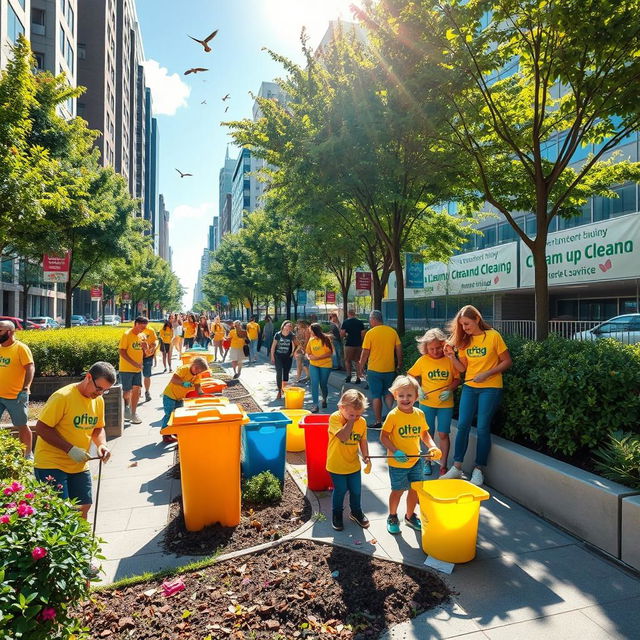
[[(104, 399), (101, 396), (87, 398), (76, 383), (68, 384), (51, 394), (38, 419), (55, 429), (69, 444), (88, 451), (93, 430), (104, 427)], [(74, 462), (62, 449), (43, 438), (36, 441), (33, 455), (36, 469), (80, 473), (87, 468), (86, 462)]]

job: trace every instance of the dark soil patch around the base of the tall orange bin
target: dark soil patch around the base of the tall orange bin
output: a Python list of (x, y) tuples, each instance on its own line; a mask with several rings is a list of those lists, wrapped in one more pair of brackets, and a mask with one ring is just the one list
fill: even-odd
[(242, 501), (240, 524), (237, 527), (210, 525), (201, 531), (187, 531), (182, 512), (182, 496), (178, 496), (169, 510), (169, 524), (164, 548), (176, 555), (212, 555), (247, 549), (298, 529), (311, 518), (309, 501), (300, 493), (296, 483), (285, 474), (282, 500), (276, 505), (256, 505)]

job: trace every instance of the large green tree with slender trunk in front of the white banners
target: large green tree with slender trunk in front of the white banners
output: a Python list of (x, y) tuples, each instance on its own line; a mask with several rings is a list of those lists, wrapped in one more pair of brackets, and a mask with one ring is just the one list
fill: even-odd
[(455, 150), (464, 180), (531, 250), (544, 339), (549, 225), (640, 178), (640, 165), (611, 158), (640, 125), (640, 2), (389, 0), (358, 14), (397, 86), (439, 114), (416, 136)]

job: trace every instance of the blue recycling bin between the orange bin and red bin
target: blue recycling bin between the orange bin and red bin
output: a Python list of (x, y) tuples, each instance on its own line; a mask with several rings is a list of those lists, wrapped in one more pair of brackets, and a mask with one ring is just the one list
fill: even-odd
[(245, 478), (271, 471), (284, 484), (287, 425), (291, 418), (280, 412), (249, 413), (242, 425), (242, 473)]

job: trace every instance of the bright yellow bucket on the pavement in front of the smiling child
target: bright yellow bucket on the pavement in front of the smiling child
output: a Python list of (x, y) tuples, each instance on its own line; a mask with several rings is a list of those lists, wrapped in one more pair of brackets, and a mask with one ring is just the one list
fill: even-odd
[(489, 492), (466, 480), (413, 482), (422, 516), (422, 549), (444, 562), (469, 562), (476, 556), (480, 502)]

